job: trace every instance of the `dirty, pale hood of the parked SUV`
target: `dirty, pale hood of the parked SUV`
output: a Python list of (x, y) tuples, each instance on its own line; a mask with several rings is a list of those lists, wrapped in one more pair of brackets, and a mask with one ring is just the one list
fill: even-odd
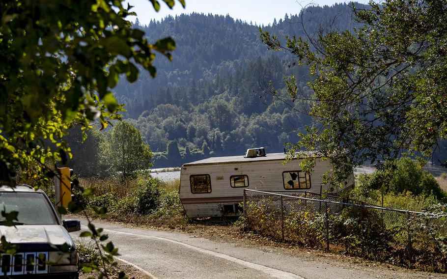
[(49, 244), (60, 246), (64, 243), (74, 249), (75, 245), (62, 225), (16, 225), (0, 226), (0, 235), (12, 244)]

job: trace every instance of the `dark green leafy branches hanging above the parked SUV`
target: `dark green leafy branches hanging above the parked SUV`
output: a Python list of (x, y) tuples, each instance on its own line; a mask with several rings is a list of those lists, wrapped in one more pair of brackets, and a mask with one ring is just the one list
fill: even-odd
[(125, 19), (130, 8), (102, 0), (1, 1), (1, 183), (13, 185), (17, 167), (36, 183), (53, 177), (45, 162), (71, 157), (62, 139), (68, 128), (119, 118), (111, 89), (120, 75), (135, 82), (139, 65), (155, 77), (155, 53), (171, 59), (174, 41), (148, 42)]

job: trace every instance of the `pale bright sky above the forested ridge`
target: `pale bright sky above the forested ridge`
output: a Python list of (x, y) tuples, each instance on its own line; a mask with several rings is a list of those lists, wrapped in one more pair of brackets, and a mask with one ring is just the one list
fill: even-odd
[[(141, 25), (147, 25), (151, 19), (161, 20), (167, 15), (179, 15), (182, 13), (190, 14), (193, 12), (204, 14), (229, 14), (234, 19), (241, 19), (258, 25), (269, 25), (276, 18), (284, 18), (287, 14), (298, 14), (302, 7), (307, 4), (315, 5), (333, 5), (334, 3), (344, 2), (343, 0), (185, 0), (184, 9), (180, 2), (175, 0), (172, 10), (163, 2), (161, 9), (155, 12), (149, 0), (127, 0), (132, 6), (132, 11), (137, 13)], [(359, 2), (366, 2), (358, 0)], [(129, 20), (135, 22), (135, 17), (129, 17)]]

